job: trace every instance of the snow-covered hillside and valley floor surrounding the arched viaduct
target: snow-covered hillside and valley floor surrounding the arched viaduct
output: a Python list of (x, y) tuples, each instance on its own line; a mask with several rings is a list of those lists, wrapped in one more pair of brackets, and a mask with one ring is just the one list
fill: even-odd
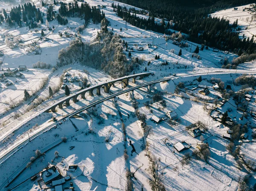
[[(149, 107), (144, 105), (147, 101), (150, 102), (152, 98), (152, 94), (147, 92), (147, 87), (134, 91), (135, 99), (139, 103), (139, 111), (145, 114), (147, 118), (146, 123), (153, 127), (153, 133), (147, 138), (148, 151), (145, 150), (141, 122), (134, 115), (135, 109), (132, 107), (130, 93), (122, 94), (116, 103), (108, 100), (97, 105), (97, 116), (94, 116), (91, 110), (85, 111), (80, 114), (80, 117), (72, 118), (71, 120), (67, 119), (61, 125), (57, 125), (56, 128), (50, 129), (31, 142), (23, 145), (8, 160), (0, 164), (0, 171), (3, 172), (3, 176), (0, 176), (0, 191), (6, 191), (8, 188), (13, 188), (14, 191), (39, 191), (40, 188), (37, 182), (39, 178), (31, 181), (30, 177), (37, 174), (48, 164), (56, 165), (63, 176), (71, 176), (72, 180), (67, 181), (63, 185), (63, 188), (69, 187), (70, 182), (73, 182), (73, 187), (81, 191), (125, 190), (127, 182), (126, 169), (128, 168), (132, 173), (137, 170), (134, 174), (135, 178), (132, 178), (134, 190), (141, 191), (143, 187), (144, 190), (150, 191), (151, 174), (149, 172), (150, 163), (147, 156), (149, 152), (157, 157), (160, 170), (163, 172), (163, 184), (168, 191), (236, 191), (238, 189), (239, 178), (246, 174), (245, 170), (239, 170), (236, 167), (235, 158), (227, 151), (226, 146), (229, 140), (223, 139), (222, 135), (228, 128), (209, 116), (204, 103), (209, 102), (207, 105), (210, 107), (212, 100), (215, 98), (221, 99), (221, 93), (215, 91), (212, 88), (212, 84), (209, 83), (212, 77), (221, 78), (225, 86), (230, 85), (233, 91), (239, 91), (241, 86), (235, 86), (233, 80), (243, 72), (255, 74), (255, 62), (240, 65), (239, 69), (241, 70), (238, 70), (237, 74), (234, 74), (236, 70), (221, 69), (220, 62), (224, 57), (227, 57), (231, 61), (237, 55), (224, 54), (221, 51), (213, 52), (212, 48), (209, 48), (209, 50), (200, 51), (201, 60), (198, 60), (198, 58), (192, 57), (192, 52), (195, 50), (197, 44), (191, 42), (187, 42), (189, 48), (182, 48), (182, 55), (178, 56), (180, 47), (174, 45), (172, 40), (166, 41), (163, 34), (145, 31), (125, 23), (125, 21), (117, 17), (116, 13), (113, 12), (111, 8), (112, 2), (117, 4), (117, 2), (112, 0), (93, 0), (88, 3), (90, 3), (90, 6), (105, 5), (106, 8), (102, 9), (102, 11), (105, 12), (107, 19), (110, 21), (109, 29), (113, 28), (113, 32), (120, 34), (122, 40), (127, 41), (128, 46), (134, 48), (134, 51), (131, 52), (132, 57), (140, 57), (145, 60), (135, 72), (144, 72), (145, 67), (147, 71), (154, 72), (154, 76), (136, 80), (135, 84), (129, 82), (130, 86), (175, 76), (173, 80), (151, 86), (152, 91), (165, 93), (163, 99), (166, 101), (166, 108), (163, 108), (160, 103), (152, 103)], [(38, 2), (35, 2), (35, 4), (40, 6)], [(119, 3), (119, 5), (127, 6), (128, 8), (133, 7), (123, 3)], [(41, 11), (46, 11), (44, 7), (40, 9)], [(58, 6), (54, 6), (54, 9), (57, 11)], [(140, 10), (138, 8), (136, 9)], [(219, 14), (222, 13), (219, 12)], [(216, 13), (215, 16), (218, 15)], [(141, 15), (141, 17), (146, 18), (147, 16)], [(101, 71), (79, 65), (61, 67), (54, 72), (47, 69), (32, 68), (32, 64), (37, 61), (49, 63), (52, 66), (56, 64), (58, 50), (68, 46), (68, 43), (72, 40), (72, 37), (60, 37), (58, 32), (64, 33), (64, 31), (67, 31), (70, 34), (75, 34), (75, 28), (83, 24), (83, 20), (78, 18), (68, 18), (68, 21), (66, 26), (60, 26), (56, 20), (49, 23), (49, 26), (55, 26), (54, 31), (45, 31), (46, 37), (50, 39), (49, 41), (39, 38), (41, 36), (40, 29), (38, 29), (38, 32), (35, 29), (29, 30), (26, 27), (7, 30), (4, 29), (4, 26), (0, 26), (0, 35), (9, 34), (23, 40), (23, 46), (19, 48), (10, 49), (4, 44), (0, 46), (0, 50), (4, 53), (4, 56), (1, 57), (3, 60), (2, 67), (5, 70), (8, 67), (16, 68), (19, 65), (26, 65), (29, 68), (29, 71), (22, 72), (25, 76), (23, 79), (8, 77), (8, 80), (12, 81), (14, 85), (6, 87), (6, 83), (0, 83), (0, 108), (2, 109), (0, 111), (2, 114), (0, 123), (6, 123), (7, 121), (9, 123), (13, 120), (15, 113), (23, 114), (25, 112), (31, 100), (29, 102), (22, 102), (24, 89), (27, 89), (31, 93), (37, 90), (44, 77), (48, 77), (47, 85), (38, 91), (32, 99), (47, 97), (49, 87), (58, 85), (64, 69), (71, 67), (70, 74), (86, 77), (90, 85), (96, 85), (97, 83), (111, 79), (111, 77)], [(156, 22), (160, 21), (156, 20)], [(125, 29), (126, 24), (127, 30)], [(41, 25), (41, 29), (43, 28), (46, 28), (45, 23)], [(122, 28), (122, 31), (120, 31), (120, 28)], [(90, 23), (84, 29), (83, 33), (81, 33), (82, 40), (90, 42), (96, 37), (97, 31), (99, 30), (100, 24)], [(4, 41), (3, 38), (1, 40)], [(34, 51), (28, 53), (29, 46), (32, 43), (36, 43), (41, 54), (33, 54)], [(152, 45), (151, 48), (147, 47), (148, 43)], [(144, 50), (137, 51), (138, 47), (143, 47)], [(172, 50), (171, 52), (171, 49), (174, 51)], [(125, 52), (125, 54), (128, 55), (128, 52)], [(154, 59), (156, 54), (160, 56), (160, 59)], [(148, 64), (148, 61), (151, 63)], [(166, 61), (168, 65), (162, 65)], [(200, 84), (208, 86), (210, 94), (206, 96), (199, 94), (198, 90), (200, 88), (190, 93), (182, 92), (180, 94), (174, 94), (176, 85), (180, 82), (183, 82), (186, 88), (197, 87), (199, 83), (196, 78), (199, 75), (202, 75), (203, 78)], [(17, 82), (15, 82), (16, 80)], [(80, 88), (78, 82), (67, 83), (67, 85), (70, 87), (71, 93), (78, 91)], [(116, 83), (114, 87), (111, 87), (111, 93), (121, 90), (121, 83)], [(71, 101), (70, 106), (64, 107), (63, 109), (58, 108), (56, 113), (40, 114), (38, 116), (42, 108), (51, 105), (64, 96), (64, 90), (60, 90), (51, 99), (44, 101), (43, 104), (32, 110), (31, 113), (27, 113), (23, 118), (19, 118), (20, 120), (13, 121), (6, 128), (0, 128), (3, 131), (0, 131), (0, 154), (3, 155), (12, 151), (17, 145), (26, 141), (28, 135), (30, 137), (36, 135), (39, 131), (51, 125), (53, 123), (52, 117), (61, 120), (63, 116), (108, 95), (103, 90), (101, 91), (101, 96), (96, 96), (96, 93), (94, 94), (95, 96), (93, 97), (86, 94), (86, 99), (84, 100), (79, 97), (79, 102), (73, 103)], [(6, 102), (10, 98), (15, 102), (22, 103), (19, 107), (11, 109), (6, 113)], [(199, 98), (203, 101), (195, 101)], [(234, 119), (236, 114), (236, 106), (234, 105), (234, 101), (230, 99), (229, 102), (219, 108), (219, 111), (225, 112), (228, 108), (233, 108), (229, 116)], [(254, 103), (250, 104), (250, 107), (254, 106)], [(167, 122), (156, 124), (150, 120), (153, 114), (157, 117), (162, 117), (168, 110), (175, 110), (177, 112), (179, 118), (178, 123), (173, 125), (169, 125)], [(35, 118), (29, 121), (32, 117)], [(239, 119), (239, 117), (240, 114), (235, 118)], [(125, 148), (121, 118), (127, 131), (128, 142), (125, 143), (128, 145), (127, 160), (124, 157)], [(185, 127), (198, 120), (206, 123), (209, 131), (205, 132), (203, 137), (193, 138), (185, 131)], [(250, 120), (252, 124), (255, 123), (253, 119)], [(24, 121), (25, 123), (21, 125)], [(71, 121), (78, 130), (73, 126)], [(246, 120), (243, 121), (243, 123), (245, 122)], [(15, 129), (15, 127), (19, 128)], [(16, 131), (13, 132), (14, 130)], [(6, 134), (10, 135), (5, 138), (7, 136)], [(62, 137), (67, 137), (67, 143), (61, 143)], [(3, 140), (3, 138), (5, 139)], [(249, 137), (249, 140), (251, 141), (252, 137)], [(129, 141), (134, 145), (138, 154), (133, 153), (131, 156), (132, 148)], [(165, 141), (170, 145), (166, 144)], [(180, 153), (177, 151), (173, 152), (175, 150), (173, 144), (179, 141), (186, 141), (192, 147)], [(211, 157), (208, 162), (192, 157), (188, 164), (182, 166), (180, 160), (184, 154), (191, 154), (197, 144), (202, 141), (209, 143)], [(36, 159), (32, 163), (31, 168), (25, 168), (30, 161), (30, 157), (34, 156), (36, 149), (45, 152), (45, 155)], [(58, 151), (58, 158), (55, 157), (55, 151)], [(241, 153), (244, 154), (244, 158), (253, 160), (253, 151), (255, 151), (255, 144), (243, 143), (241, 145)], [(69, 171), (69, 165), (78, 165), (78, 169), (75, 172)], [(10, 179), (15, 177), (15, 174), (23, 168), (24, 171), (20, 176), (9, 187), (5, 188), (4, 186), (7, 182), (11, 181)], [(252, 176), (255, 177), (255, 173), (252, 172)], [(7, 180), (7, 177), (9, 180)]]

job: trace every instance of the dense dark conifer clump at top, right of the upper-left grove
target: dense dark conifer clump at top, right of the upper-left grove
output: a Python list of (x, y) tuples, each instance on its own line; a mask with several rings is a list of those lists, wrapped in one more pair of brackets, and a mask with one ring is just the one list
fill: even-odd
[(95, 6), (90, 8), (86, 2), (81, 3), (81, 6), (77, 2), (61, 3), (59, 14), (62, 17), (83, 17), (86, 24), (90, 19), (92, 19), (93, 23), (100, 23), (105, 18), (105, 14), (103, 12), (101, 13), (100, 9), (97, 9)]

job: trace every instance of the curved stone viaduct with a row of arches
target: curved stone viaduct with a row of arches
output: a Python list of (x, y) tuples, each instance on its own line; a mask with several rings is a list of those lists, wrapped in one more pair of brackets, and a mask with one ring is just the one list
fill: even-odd
[(133, 74), (130, 76), (124, 76), (124, 77), (120, 77), (114, 80), (110, 80), (107, 81), (105, 83), (100, 83), (94, 86), (91, 86), (89, 88), (85, 88), (83, 90), (80, 90), (78, 92), (76, 92), (75, 94), (72, 94), (70, 96), (67, 96), (65, 98), (63, 98), (62, 100), (58, 100), (57, 102), (55, 102), (53, 105), (50, 105), (49, 107), (45, 108), (44, 112), (55, 112), (56, 111), (56, 107), (58, 106), (59, 108), (63, 108), (63, 104), (66, 105), (70, 105), (70, 100), (72, 99), (73, 102), (77, 102), (77, 98), (81, 95), (82, 99), (85, 99), (85, 94), (86, 92), (89, 92), (90, 96), (93, 96), (93, 90), (96, 89), (97, 90), (97, 95), (101, 95), (100, 93), (100, 89), (102, 87), (104, 87), (104, 91), (105, 93), (109, 93), (109, 90), (111, 88), (111, 86), (113, 86), (114, 83), (116, 82), (121, 82), (123, 84), (124, 87), (129, 85), (129, 80), (132, 79), (132, 82), (135, 83), (136, 82), (136, 78), (140, 77), (140, 79), (142, 79), (143, 77), (147, 77), (149, 75), (153, 75), (154, 73), (152, 72), (144, 72), (144, 73), (140, 73), (140, 74)]

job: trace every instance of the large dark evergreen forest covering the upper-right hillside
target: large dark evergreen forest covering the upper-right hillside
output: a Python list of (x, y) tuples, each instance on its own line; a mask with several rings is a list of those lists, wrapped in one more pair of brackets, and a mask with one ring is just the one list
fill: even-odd
[[(253, 3), (252, 0), (119, 0), (149, 11), (150, 19), (141, 19), (137, 14), (145, 11), (129, 9), (112, 4), (114, 11), (128, 23), (142, 29), (172, 34), (172, 29), (189, 34), (188, 40), (195, 43), (206, 43), (207, 46), (221, 50), (252, 53), (255, 51), (254, 39), (239, 39), (236, 31), (237, 21), (229, 24), (228, 20), (208, 17), (208, 14), (219, 9)], [(131, 14), (134, 13), (134, 14)], [(162, 19), (160, 24), (154, 18)], [(164, 22), (168, 20), (170, 22)], [(249, 43), (248, 43), (249, 42)], [(251, 43), (250, 43), (251, 42)]]

